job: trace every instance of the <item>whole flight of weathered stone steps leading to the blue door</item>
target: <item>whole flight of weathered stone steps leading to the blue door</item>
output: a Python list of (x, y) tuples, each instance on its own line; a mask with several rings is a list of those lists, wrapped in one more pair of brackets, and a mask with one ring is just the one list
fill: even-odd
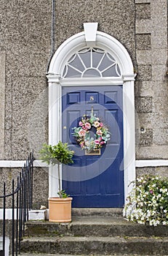
[(29, 255), (168, 255), (168, 227), (137, 225), (121, 216), (27, 222), (25, 231), (21, 248)]

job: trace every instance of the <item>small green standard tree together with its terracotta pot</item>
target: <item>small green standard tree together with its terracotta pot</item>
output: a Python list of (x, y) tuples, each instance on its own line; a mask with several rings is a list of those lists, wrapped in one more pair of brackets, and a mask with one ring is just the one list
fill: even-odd
[[(44, 144), (39, 151), (42, 162), (48, 165), (57, 165), (58, 172), (58, 195), (59, 197), (49, 198), (49, 221), (52, 222), (71, 222), (71, 201), (65, 190), (61, 190), (60, 184), (60, 165), (73, 163), (74, 151), (68, 148), (68, 143), (59, 141), (57, 145)], [(64, 216), (65, 215), (65, 216)]]

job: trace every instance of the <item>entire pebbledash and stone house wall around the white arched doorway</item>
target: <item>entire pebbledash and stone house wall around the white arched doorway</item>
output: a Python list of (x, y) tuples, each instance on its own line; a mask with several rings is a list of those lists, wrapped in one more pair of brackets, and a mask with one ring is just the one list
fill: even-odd
[[(48, 139), (52, 1), (0, 0), (0, 6), (0, 159), (25, 159), (32, 148), (37, 159)], [(97, 22), (98, 30), (118, 39), (132, 58), (136, 158), (168, 159), (167, 0), (57, 0), (53, 48), (83, 31), (84, 22)], [(0, 176), (9, 179), (11, 171), (18, 170), (1, 169)], [(36, 195), (45, 189), (47, 198), (43, 171), (36, 171), (36, 177), (45, 177), (36, 178)], [(38, 202), (45, 204), (44, 197)]]

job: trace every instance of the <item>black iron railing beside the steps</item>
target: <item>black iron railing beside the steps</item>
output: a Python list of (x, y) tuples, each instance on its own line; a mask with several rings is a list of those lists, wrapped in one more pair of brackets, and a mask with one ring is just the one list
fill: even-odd
[[(28, 221), (28, 212), (32, 208), (33, 200), (33, 153), (28, 156), (22, 171), (17, 176), (17, 181), (12, 179), (12, 192), (7, 194), (4, 182), (3, 200), (3, 252), (5, 256), (5, 238), (10, 236), (10, 255), (20, 254), (20, 241), (25, 235), (25, 222)], [(11, 198), (12, 219), (7, 227), (7, 198)], [(9, 206), (8, 206), (9, 208)], [(9, 227), (10, 226), (10, 227)], [(6, 230), (8, 229), (8, 233)], [(10, 234), (10, 235), (9, 235)]]

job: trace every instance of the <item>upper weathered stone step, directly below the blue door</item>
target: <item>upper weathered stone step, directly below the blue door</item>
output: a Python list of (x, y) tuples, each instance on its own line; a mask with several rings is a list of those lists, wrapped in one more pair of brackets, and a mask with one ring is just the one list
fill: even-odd
[(151, 227), (123, 217), (73, 217), (71, 223), (30, 221), (25, 236), (168, 236), (167, 226)]

